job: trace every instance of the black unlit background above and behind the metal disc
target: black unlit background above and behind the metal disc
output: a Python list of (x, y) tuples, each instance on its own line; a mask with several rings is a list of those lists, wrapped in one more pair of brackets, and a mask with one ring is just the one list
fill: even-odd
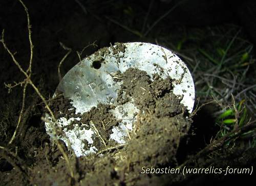
[[(54, 92), (58, 84), (55, 73), (57, 64), (66, 54), (59, 42), (72, 48), (73, 51), (62, 66), (64, 74), (78, 62), (75, 51), (82, 50), (84, 46), (94, 41), (97, 41), (98, 47), (87, 48), (83, 52), (83, 57), (92, 54), (98, 48), (109, 46), (110, 43), (132, 41), (156, 43), (158, 37), (163, 35), (166, 38), (173, 36), (175, 42), (175, 37), (183, 35), (185, 29), (232, 23), (241, 26), (245, 38), (256, 43), (256, 3), (253, 0), (163, 2), (80, 0), (82, 6), (75, 0), (24, 1), (24, 3), (29, 9), (35, 46), (33, 72), (36, 77), (40, 76), (44, 80), (43, 82), (47, 84), (44, 88), (50, 93)], [(148, 29), (175, 6), (176, 8), (161, 19), (152, 30)], [(148, 12), (149, 7), (151, 7), (150, 12)], [(6, 43), (12, 51), (16, 51), (20, 63), (26, 66), (29, 60), (29, 43), (24, 9), (18, 1), (1, 1), (0, 13), (0, 28), (5, 29)], [(122, 26), (147, 35), (139, 37)], [(228, 32), (228, 28), (226, 30)], [(206, 36), (201, 35), (201, 37)], [(17, 68), (3, 50), (3, 46), (0, 46), (0, 52), (2, 64), (0, 86), (4, 88), (4, 82), (18, 82), (22, 74), (16, 73)], [(11, 72), (15, 75), (10, 75)], [(6, 91), (2, 94), (3, 97), (7, 96)]]

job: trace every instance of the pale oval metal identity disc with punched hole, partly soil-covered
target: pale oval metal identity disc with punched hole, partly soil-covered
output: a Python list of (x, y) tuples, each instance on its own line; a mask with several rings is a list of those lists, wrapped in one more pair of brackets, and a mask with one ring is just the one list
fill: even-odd
[[(136, 121), (136, 113), (139, 112), (133, 101), (123, 105), (117, 105), (117, 92), (122, 85), (122, 81), (115, 82), (113, 76), (129, 68), (137, 68), (146, 71), (153, 80), (153, 74), (158, 73), (162, 78), (170, 76), (173, 81), (173, 92), (181, 98), (181, 103), (187, 107), (189, 113), (193, 111), (195, 101), (195, 87), (193, 78), (181, 59), (172, 51), (150, 43), (132, 42), (116, 43), (114, 46), (105, 47), (85, 58), (74, 66), (61, 80), (57, 90), (61, 91), (65, 97), (72, 99), (72, 105), (76, 109), (76, 114), (83, 114), (90, 111), (97, 104), (113, 104), (115, 109), (111, 110), (116, 119), (121, 123), (112, 129), (111, 139), (117, 143), (125, 143), (126, 130), (133, 129)], [(59, 111), (61, 112), (61, 111)], [(122, 113), (127, 113), (123, 115)], [(51, 117), (46, 114), (51, 120)], [(81, 118), (59, 118), (58, 123), (62, 126), (71, 124), (74, 120)], [(46, 129), (52, 136), (51, 124), (46, 122)], [(93, 144), (92, 128), (86, 130), (79, 128), (63, 129), (65, 135), (59, 137), (67, 146), (71, 145), (77, 156), (95, 153), (98, 149), (91, 146), (89, 150), (82, 149), (82, 141), (87, 140)], [(79, 132), (79, 137), (77, 133)]]

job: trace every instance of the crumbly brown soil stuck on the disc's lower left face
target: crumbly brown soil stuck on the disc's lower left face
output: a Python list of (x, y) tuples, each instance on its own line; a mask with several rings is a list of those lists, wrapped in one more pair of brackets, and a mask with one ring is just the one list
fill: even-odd
[[(88, 144), (87, 140), (83, 140), (84, 150), (89, 150), (91, 146), (95, 146), (98, 151), (102, 150), (105, 147), (113, 146), (115, 144), (114, 141), (110, 140), (110, 135), (112, 134), (112, 128), (119, 124), (119, 121), (115, 119), (115, 117), (109, 112), (114, 109), (113, 105), (102, 104), (99, 103), (97, 107), (93, 107), (89, 112), (84, 114), (76, 113), (76, 108), (72, 105), (72, 99), (66, 98), (63, 94), (57, 91), (54, 99), (50, 100), (49, 106), (53, 111), (55, 119), (66, 118), (69, 120), (70, 118), (81, 118), (80, 120), (74, 119), (69, 125), (63, 125), (60, 123), (60, 128), (58, 131), (59, 137), (63, 136), (63, 129), (72, 130), (75, 128), (75, 125), (78, 124), (78, 127), (82, 130), (85, 128), (86, 130), (90, 129), (91, 122), (97, 128), (100, 138), (97, 135), (93, 135), (92, 139), (94, 141), (93, 144)], [(49, 112), (45, 110), (46, 113)], [(104, 142), (102, 142), (102, 140)]]

